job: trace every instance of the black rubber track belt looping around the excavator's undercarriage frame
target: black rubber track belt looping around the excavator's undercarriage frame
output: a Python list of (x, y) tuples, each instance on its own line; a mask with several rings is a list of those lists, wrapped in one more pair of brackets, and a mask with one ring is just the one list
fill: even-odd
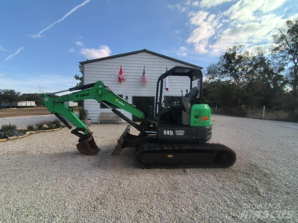
[[(139, 156), (142, 153), (226, 153), (228, 158), (225, 160), (215, 160), (214, 162), (209, 163), (189, 163), (189, 164), (143, 164)], [(146, 143), (140, 144), (137, 146), (134, 161), (136, 165), (142, 169), (151, 169), (151, 168), (227, 168), (232, 166), (236, 161), (235, 152), (226, 147), (225, 145), (218, 143), (195, 143), (195, 144), (179, 144), (179, 143), (170, 143), (170, 144), (158, 144), (158, 143)]]

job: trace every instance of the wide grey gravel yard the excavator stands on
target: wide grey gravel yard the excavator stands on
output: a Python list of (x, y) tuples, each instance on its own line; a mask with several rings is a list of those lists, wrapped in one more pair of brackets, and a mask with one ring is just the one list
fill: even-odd
[(212, 119), (228, 169), (138, 169), (110, 156), (126, 124), (90, 126), (98, 156), (66, 128), (1, 142), (0, 222), (297, 222), (298, 124)]

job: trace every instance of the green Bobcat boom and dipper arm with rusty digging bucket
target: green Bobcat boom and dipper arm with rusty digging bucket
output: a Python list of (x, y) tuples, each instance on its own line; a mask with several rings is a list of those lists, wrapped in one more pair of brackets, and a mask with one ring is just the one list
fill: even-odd
[[(91, 132), (89, 128), (77, 117), (77, 115), (73, 112), (72, 108), (69, 108), (64, 104), (64, 102), (66, 101), (94, 99), (98, 103), (109, 102), (112, 105), (117, 106), (120, 109), (123, 109), (135, 115), (136, 117), (142, 118), (141, 124), (147, 122), (147, 117), (145, 116), (145, 113), (143, 113), (140, 109), (136, 108), (135, 106), (128, 103), (127, 101), (123, 100), (123, 98), (114, 94), (111, 91), (111, 89), (109, 89), (103, 84), (102, 81), (97, 81), (93, 84), (86, 84), (83, 86), (69, 88), (67, 90), (60, 91), (60, 92), (74, 91), (74, 90), (80, 90), (80, 91), (73, 92), (67, 95), (62, 95), (57, 98), (52, 97), (51, 94), (43, 94), (41, 96), (41, 99), (43, 100), (43, 103), (45, 104), (49, 112), (51, 112), (51, 114), (55, 114), (56, 117), (58, 117), (69, 129), (72, 130), (71, 131), (72, 134), (75, 134), (80, 138), (78, 140), (79, 143), (77, 144), (77, 149), (80, 151), (80, 153), (83, 153), (85, 155), (96, 155), (100, 149), (97, 147), (93, 139), (93, 136), (92, 136), (93, 132)], [(60, 93), (60, 92), (54, 92), (54, 93)], [(126, 117), (120, 111), (118, 111), (117, 109), (111, 106), (108, 106), (108, 107), (110, 107), (112, 112), (116, 113), (119, 117), (121, 117), (123, 120), (131, 124), (133, 127), (135, 127), (138, 130), (141, 130), (140, 125), (132, 122), (128, 117)], [(70, 123), (75, 125), (77, 128), (73, 129), (66, 120), (68, 120)], [(141, 125), (141, 126), (144, 126), (144, 125)]]

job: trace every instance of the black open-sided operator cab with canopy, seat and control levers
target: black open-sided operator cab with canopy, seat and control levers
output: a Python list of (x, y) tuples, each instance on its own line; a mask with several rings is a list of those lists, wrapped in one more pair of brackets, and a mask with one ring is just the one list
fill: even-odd
[[(181, 97), (167, 96), (162, 100), (163, 79), (167, 76), (188, 76), (190, 78), (190, 91), (188, 92), (188, 89), (186, 89), (186, 94), (183, 96), (183, 90), (181, 90)], [(159, 77), (156, 88), (156, 107), (160, 112), (155, 112), (157, 126), (190, 125), (191, 106), (201, 104), (202, 77), (203, 74), (200, 69), (181, 66), (173, 67)], [(192, 82), (195, 80), (198, 80), (198, 87), (192, 87)], [(159, 82), (161, 83), (160, 88)], [(158, 90), (160, 91), (159, 95)]]

